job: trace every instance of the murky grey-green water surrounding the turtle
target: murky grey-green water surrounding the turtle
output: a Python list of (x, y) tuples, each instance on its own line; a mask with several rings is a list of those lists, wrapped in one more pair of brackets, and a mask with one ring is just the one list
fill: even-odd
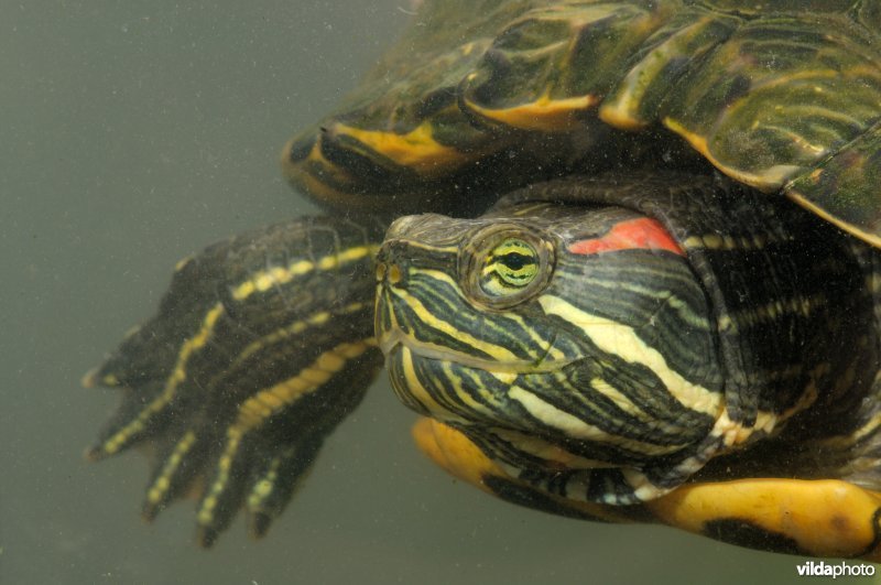
[(415, 449), (384, 377), (260, 542), (239, 518), (197, 549), (192, 501), (146, 526), (143, 457), (83, 459), (118, 397), (80, 377), (152, 314), (178, 259), (315, 213), (282, 180), (281, 147), (410, 8), (0, 0), (0, 582), (803, 581), (800, 557), (555, 518), (458, 483)]

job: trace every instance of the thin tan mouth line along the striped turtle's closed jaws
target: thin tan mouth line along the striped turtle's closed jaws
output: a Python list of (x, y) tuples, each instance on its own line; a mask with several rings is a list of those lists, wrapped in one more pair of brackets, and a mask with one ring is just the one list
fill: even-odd
[(454, 364), (464, 368), (472, 368), (493, 373), (543, 373), (557, 371), (572, 364), (572, 359), (548, 359), (553, 343), (547, 347), (544, 357), (539, 360), (509, 360), (485, 359), (456, 351), (448, 347), (415, 339), (400, 328), (384, 332), (379, 338), (379, 347), (387, 359), (393, 358), (402, 348), (406, 348), (413, 356), (437, 361)]

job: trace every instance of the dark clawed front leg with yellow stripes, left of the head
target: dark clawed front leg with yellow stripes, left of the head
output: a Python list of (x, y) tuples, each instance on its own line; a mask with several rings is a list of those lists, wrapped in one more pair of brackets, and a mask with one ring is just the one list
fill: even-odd
[(260, 537), (382, 364), (373, 257), (382, 226), (300, 218), (181, 261), (159, 312), (84, 384), (123, 390), (88, 451), (153, 455), (151, 520), (197, 489), (198, 542), (244, 507)]

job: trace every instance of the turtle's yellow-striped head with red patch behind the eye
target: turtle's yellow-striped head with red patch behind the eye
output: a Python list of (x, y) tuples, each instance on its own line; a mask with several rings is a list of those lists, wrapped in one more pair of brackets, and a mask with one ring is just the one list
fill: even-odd
[(590, 496), (591, 474), (676, 465), (704, 448), (724, 408), (700, 282), (664, 228), (634, 212), (523, 204), (471, 220), (404, 217), (377, 278), (398, 396), (515, 477), (564, 474), (576, 498), (622, 503)]

